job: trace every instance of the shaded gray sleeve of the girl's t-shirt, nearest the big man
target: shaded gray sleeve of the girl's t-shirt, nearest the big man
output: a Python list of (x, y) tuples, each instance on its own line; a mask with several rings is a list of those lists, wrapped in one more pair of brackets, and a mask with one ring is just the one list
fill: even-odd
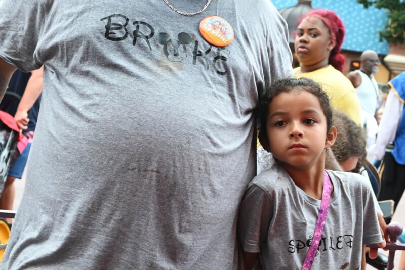
[(267, 239), (272, 217), (272, 204), (263, 189), (249, 185), (238, 215), (238, 238), (244, 251), (260, 252), (260, 243)]

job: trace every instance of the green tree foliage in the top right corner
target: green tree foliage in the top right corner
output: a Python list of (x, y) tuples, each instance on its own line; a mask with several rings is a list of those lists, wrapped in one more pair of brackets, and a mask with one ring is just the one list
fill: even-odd
[(379, 31), (380, 41), (385, 38), (391, 44), (405, 44), (405, 1), (404, 0), (357, 0), (366, 9), (389, 10), (389, 23), (386, 29)]

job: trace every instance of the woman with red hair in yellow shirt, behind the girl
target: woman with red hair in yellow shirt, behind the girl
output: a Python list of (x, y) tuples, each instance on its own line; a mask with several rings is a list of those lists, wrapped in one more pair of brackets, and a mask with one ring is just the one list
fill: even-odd
[(330, 10), (312, 10), (299, 22), (295, 53), (300, 66), (297, 78), (308, 77), (322, 85), (332, 107), (361, 123), (361, 107), (350, 80), (342, 74), (345, 57), (340, 53), (345, 35), (342, 20)]

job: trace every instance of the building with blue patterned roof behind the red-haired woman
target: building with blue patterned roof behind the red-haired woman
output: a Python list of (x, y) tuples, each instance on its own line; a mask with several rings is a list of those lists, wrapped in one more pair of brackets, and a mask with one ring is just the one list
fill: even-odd
[[(289, 24), (290, 47), (294, 54), (294, 31), (299, 18), (312, 8), (333, 10), (342, 19), (346, 34), (342, 54), (346, 56), (344, 74), (360, 67), (360, 54), (368, 49), (378, 53), (381, 59), (379, 72), (374, 74), (379, 82), (388, 82), (405, 70), (405, 47), (390, 46), (380, 41), (378, 32), (388, 23), (388, 10), (364, 8), (356, 0), (271, 0)], [(295, 60), (294, 66), (298, 65)]]

